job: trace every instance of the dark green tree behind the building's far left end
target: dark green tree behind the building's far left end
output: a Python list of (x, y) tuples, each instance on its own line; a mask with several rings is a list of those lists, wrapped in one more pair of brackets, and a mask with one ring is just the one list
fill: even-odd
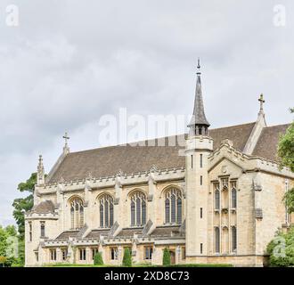
[(18, 190), (20, 192), (29, 192), (29, 196), (20, 199), (14, 199), (13, 201), (13, 216), (18, 225), (18, 231), (20, 233), (20, 240), (24, 239), (24, 214), (29, 211), (34, 205), (34, 189), (37, 182), (37, 173), (32, 173), (26, 182), (19, 183)]

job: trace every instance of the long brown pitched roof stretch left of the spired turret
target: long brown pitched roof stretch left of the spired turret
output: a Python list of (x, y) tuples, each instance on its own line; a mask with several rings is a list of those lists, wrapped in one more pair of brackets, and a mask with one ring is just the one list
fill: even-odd
[[(177, 146), (110, 146), (90, 151), (69, 153), (47, 183), (116, 175), (121, 170), (131, 174), (158, 168), (184, 167), (184, 157), (178, 156)], [(182, 147), (184, 149), (184, 147)]]

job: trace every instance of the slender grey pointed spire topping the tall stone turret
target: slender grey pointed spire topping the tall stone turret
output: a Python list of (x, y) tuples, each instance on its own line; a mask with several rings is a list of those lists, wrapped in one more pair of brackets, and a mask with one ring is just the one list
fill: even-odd
[(202, 98), (202, 87), (201, 87), (201, 72), (200, 72), (200, 59), (198, 59), (197, 64), (197, 81), (196, 81), (196, 90), (195, 90), (195, 101), (194, 101), (194, 110), (193, 116), (190, 124), (190, 134), (199, 135), (208, 134), (208, 120), (205, 116), (203, 98)]

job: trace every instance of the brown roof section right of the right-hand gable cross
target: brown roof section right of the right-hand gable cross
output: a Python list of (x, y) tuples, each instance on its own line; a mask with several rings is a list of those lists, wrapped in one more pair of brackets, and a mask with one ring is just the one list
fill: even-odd
[(289, 126), (290, 124), (266, 126), (262, 130), (252, 154), (265, 159), (280, 160), (277, 157), (279, 138), (281, 134), (285, 134)]

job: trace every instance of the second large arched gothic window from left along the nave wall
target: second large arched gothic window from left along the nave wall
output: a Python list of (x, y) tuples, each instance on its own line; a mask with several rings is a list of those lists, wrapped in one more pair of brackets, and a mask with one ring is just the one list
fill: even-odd
[(113, 225), (113, 198), (104, 194), (98, 199), (100, 227), (110, 228)]

